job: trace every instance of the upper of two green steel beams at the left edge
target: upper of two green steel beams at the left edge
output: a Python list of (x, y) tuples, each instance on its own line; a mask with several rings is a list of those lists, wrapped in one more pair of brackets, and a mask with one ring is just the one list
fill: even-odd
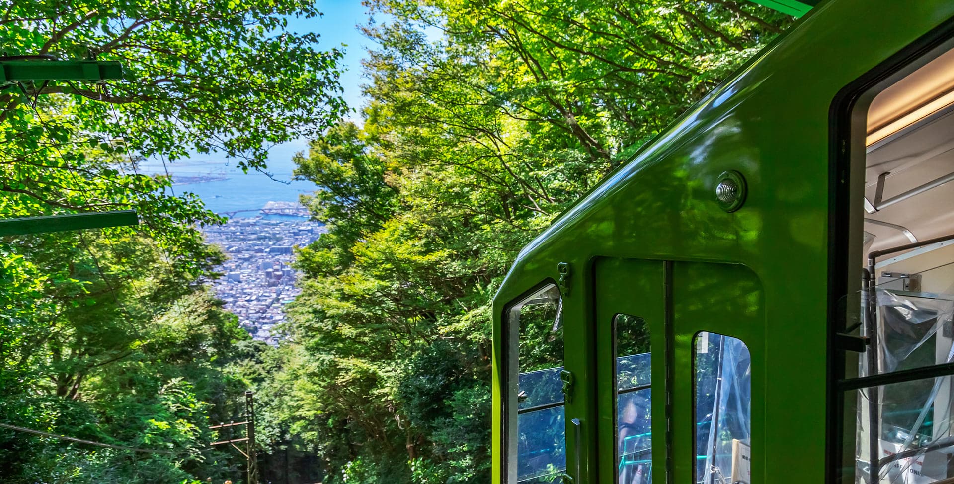
[(0, 60), (0, 82), (121, 79), (115, 60)]

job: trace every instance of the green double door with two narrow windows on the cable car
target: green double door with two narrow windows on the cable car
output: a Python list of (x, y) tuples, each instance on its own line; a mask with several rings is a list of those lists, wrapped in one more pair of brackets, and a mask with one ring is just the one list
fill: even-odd
[(600, 484), (764, 482), (757, 276), (610, 258), (593, 276)]

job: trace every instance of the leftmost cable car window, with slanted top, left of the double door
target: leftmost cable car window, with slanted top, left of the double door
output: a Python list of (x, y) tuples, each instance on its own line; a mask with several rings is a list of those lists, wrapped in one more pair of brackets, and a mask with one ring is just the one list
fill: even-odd
[(567, 467), (562, 312), (550, 284), (508, 313), (508, 482), (553, 482)]

